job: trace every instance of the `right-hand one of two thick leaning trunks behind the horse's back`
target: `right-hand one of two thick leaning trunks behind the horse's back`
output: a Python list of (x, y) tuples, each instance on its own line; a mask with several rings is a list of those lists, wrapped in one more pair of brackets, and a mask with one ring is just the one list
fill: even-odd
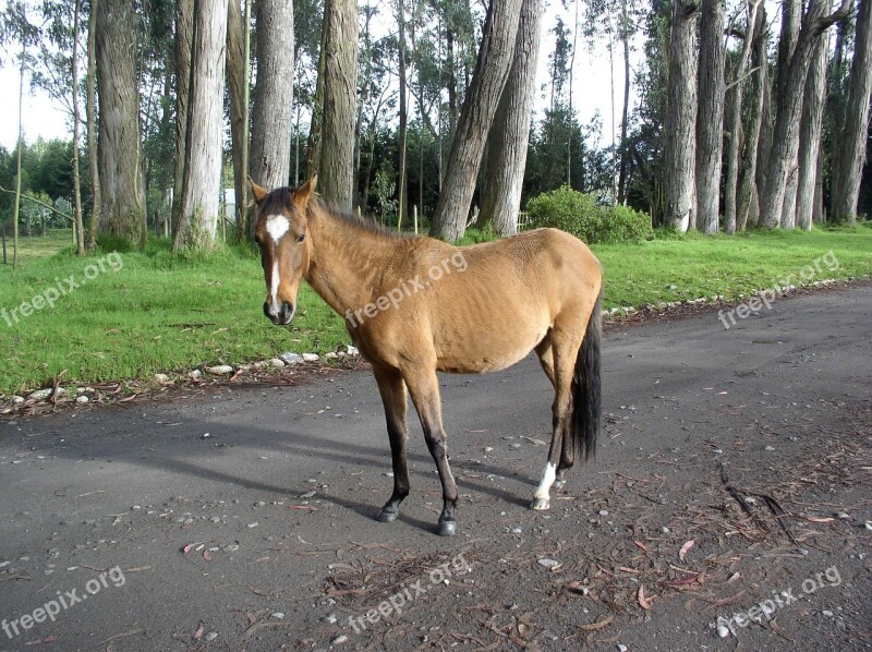
[(543, 0), (524, 0), (521, 5), (514, 60), (488, 136), (488, 174), (482, 198), (482, 220), (493, 222), (500, 237), (518, 232), (542, 11)]

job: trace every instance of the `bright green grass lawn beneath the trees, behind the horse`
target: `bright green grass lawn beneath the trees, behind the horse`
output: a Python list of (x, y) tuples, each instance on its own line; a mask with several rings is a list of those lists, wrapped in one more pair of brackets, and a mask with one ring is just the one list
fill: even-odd
[[(593, 249), (605, 268), (605, 307), (738, 298), (783, 285), (806, 266), (811, 281), (872, 276), (870, 222), (811, 233), (664, 236)], [(56, 231), (24, 239), (21, 252), (17, 271), (0, 266), (0, 394), (36, 389), (64, 370), (63, 383), (148, 378), (284, 351), (324, 353), (349, 342), (340, 317), (307, 287), (290, 328), (269, 324), (259, 259), (246, 251), (172, 256), (167, 242), (152, 241), (144, 253), (80, 259), (70, 232)], [(69, 289), (71, 275), (80, 287)], [(50, 297), (51, 289), (59, 294), (53, 307), (21, 315), (22, 303)]]

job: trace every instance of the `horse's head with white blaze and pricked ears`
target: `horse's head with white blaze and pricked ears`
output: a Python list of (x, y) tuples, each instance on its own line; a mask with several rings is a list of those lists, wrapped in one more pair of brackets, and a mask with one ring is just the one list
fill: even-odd
[(300, 281), (308, 270), (311, 241), (307, 238), (308, 202), (317, 177), (299, 189), (271, 192), (251, 182), (257, 207), (254, 239), (261, 247), (266, 278), (264, 314), (276, 326), (287, 326), (296, 310)]

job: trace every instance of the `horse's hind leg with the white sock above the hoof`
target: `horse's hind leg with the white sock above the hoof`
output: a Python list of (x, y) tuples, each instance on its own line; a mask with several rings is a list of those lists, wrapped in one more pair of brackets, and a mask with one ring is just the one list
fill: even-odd
[[(567, 464), (567, 444), (569, 437), (565, 436), (565, 431), (569, 420), (571, 410), (571, 388), (572, 388), (572, 372), (576, 365), (576, 355), (578, 353), (580, 340), (572, 336), (552, 330), (546, 339), (536, 347), (536, 353), (540, 357), (542, 366), (548, 378), (554, 384), (554, 403), (552, 403), (552, 445), (548, 449), (548, 462), (545, 464), (545, 472), (542, 475), (535, 494), (533, 494), (533, 502), (530, 507), (536, 510), (548, 509), (550, 507), (550, 488), (558, 480), (559, 470), (559, 484), (562, 485), (564, 471), (572, 466), (569, 461)], [(547, 363), (547, 355), (550, 353), (550, 365)], [(550, 373), (548, 373), (550, 369)]]

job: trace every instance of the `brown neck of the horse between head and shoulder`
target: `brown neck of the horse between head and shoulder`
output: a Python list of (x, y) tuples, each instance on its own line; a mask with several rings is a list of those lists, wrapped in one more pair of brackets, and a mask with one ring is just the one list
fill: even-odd
[(340, 315), (366, 305), (391, 241), (320, 212), (310, 216), (308, 230), (312, 254), (306, 281)]

